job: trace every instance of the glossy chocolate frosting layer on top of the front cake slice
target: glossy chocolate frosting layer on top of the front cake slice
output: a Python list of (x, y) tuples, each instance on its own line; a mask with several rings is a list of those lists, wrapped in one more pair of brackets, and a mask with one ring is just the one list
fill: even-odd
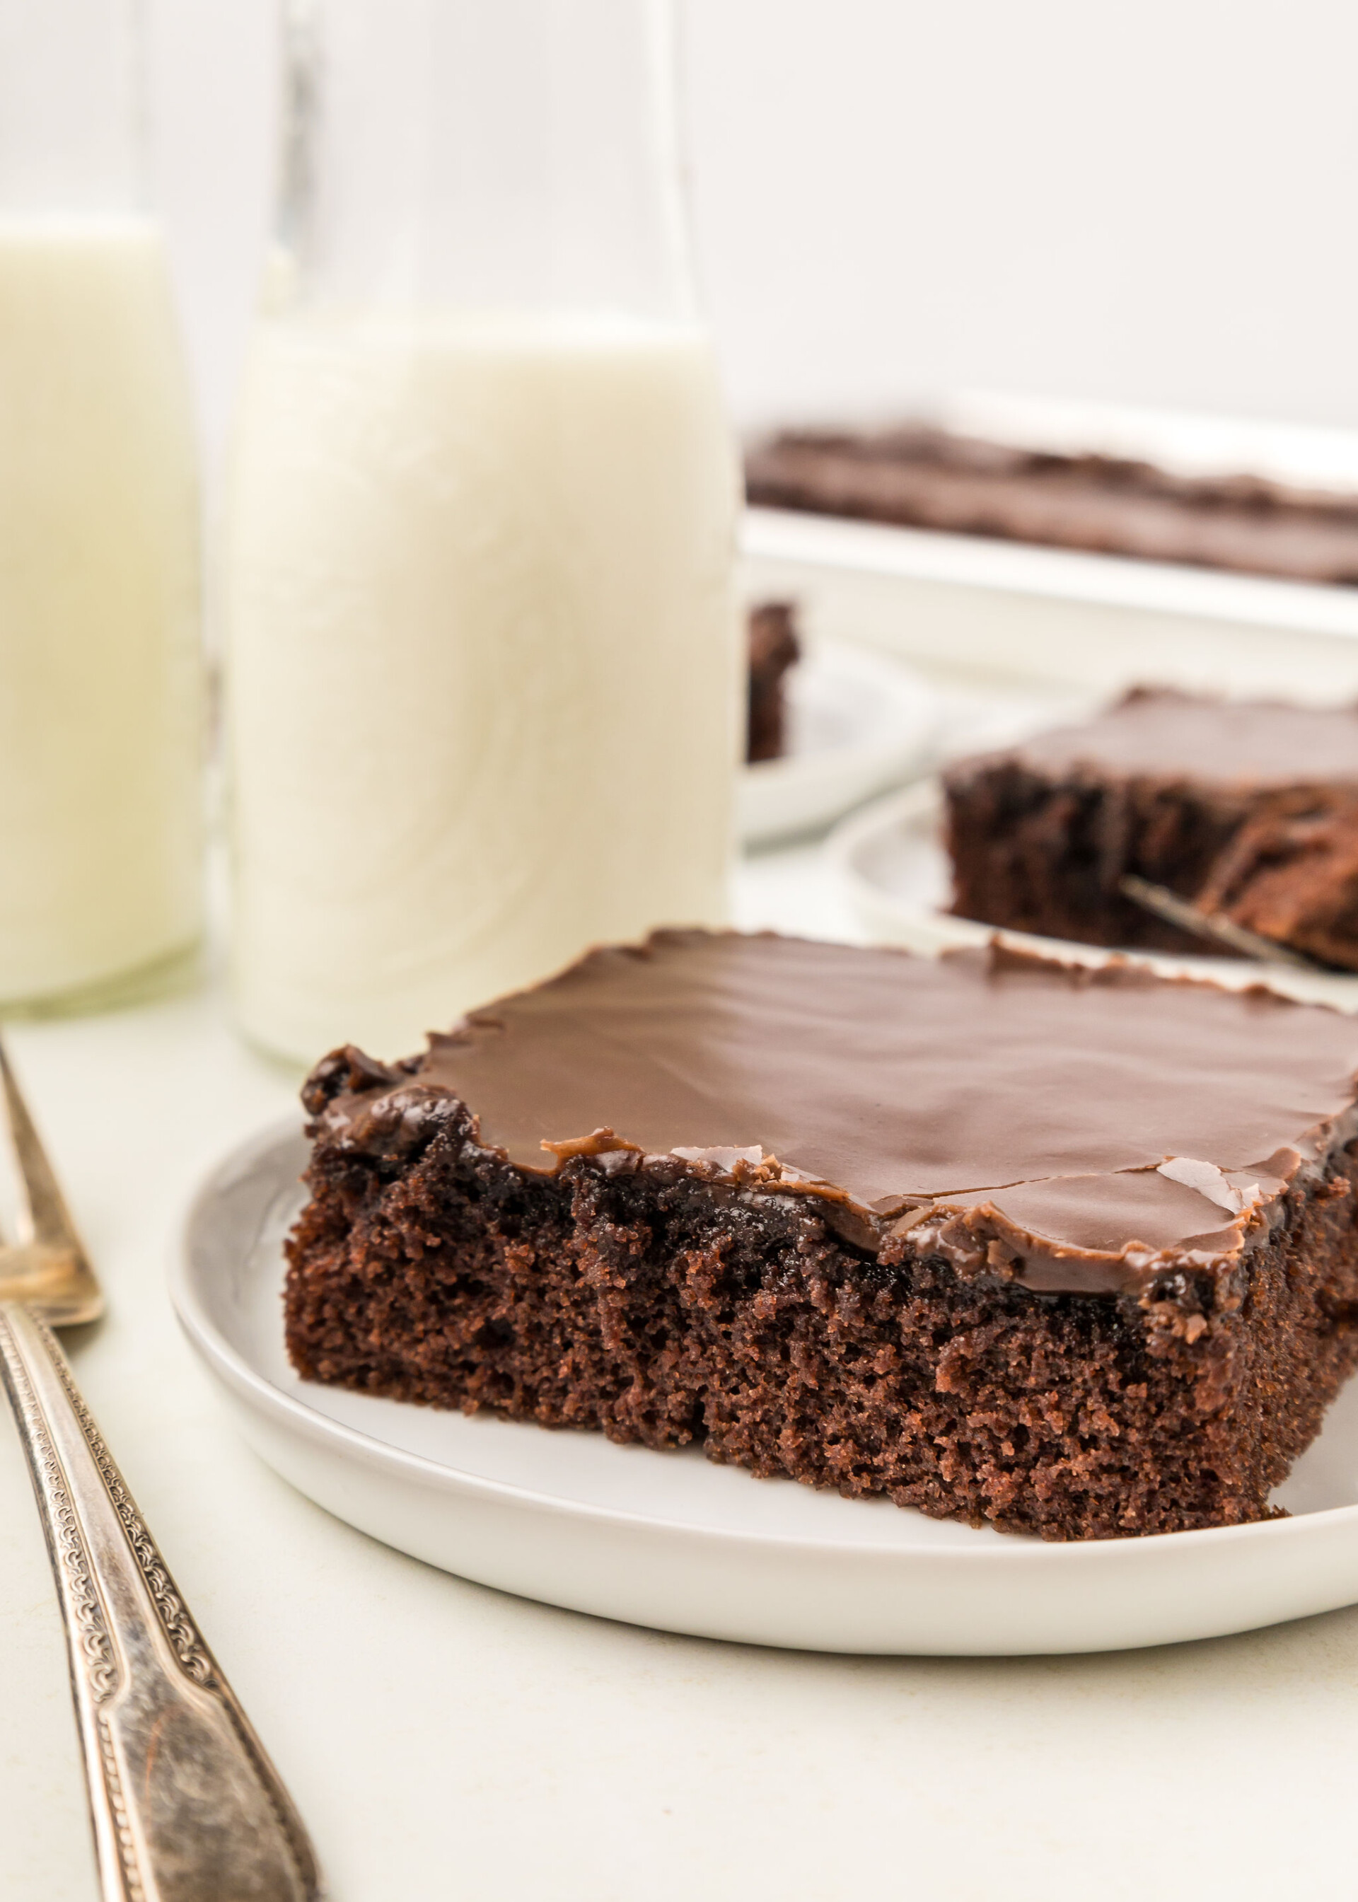
[[(1029, 1286), (1120, 1290), (1267, 1232), (1352, 1134), (1358, 1021), (993, 947), (917, 959), (658, 932), (474, 1012), (323, 1124), (451, 1096), (521, 1168), (679, 1158)], [(390, 1122), (390, 1115), (386, 1116)], [(776, 1158), (776, 1160), (770, 1160)], [(976, 1259), (972, 1259), (976, 1257)]]

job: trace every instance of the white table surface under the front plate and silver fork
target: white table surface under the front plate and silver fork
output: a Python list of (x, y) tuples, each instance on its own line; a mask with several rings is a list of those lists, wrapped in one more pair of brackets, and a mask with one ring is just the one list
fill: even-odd
[[(742, 924), (852, 930), (812, 852)], [(89, 1404), (312, 1828), (335, 1902), (1345, 1898), (1358, 1609), (1107, 1657), (852, 1659), (633, 1630), (403, 1558), (234, 1436), (164, 1271), (293, 1078), (211, 985), (10, 1033), (110, 1293)], [(0, 1898), (91, 1902), (65, 1655), (0, 1426)]]

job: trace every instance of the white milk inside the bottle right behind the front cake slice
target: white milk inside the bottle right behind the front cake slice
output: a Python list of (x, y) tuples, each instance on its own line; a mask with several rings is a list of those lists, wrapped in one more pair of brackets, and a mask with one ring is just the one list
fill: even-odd
[(736, 466), (698, 331), (274, 318), (236, 445), (236, 999), (399, 1056), (727, 905)]

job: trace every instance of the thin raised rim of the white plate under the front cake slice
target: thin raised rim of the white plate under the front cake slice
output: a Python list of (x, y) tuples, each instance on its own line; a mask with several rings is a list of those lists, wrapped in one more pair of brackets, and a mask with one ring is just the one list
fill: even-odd
[[(879, 801), (879, 805), (883, 803)], [(999, 1533), (999, 1543), (985, 1541), (978, 1546), (883, 1546), (848, 1539), (844, 1535), (825, 1539), (770, 1533), (749, 1527), (738, 1529), (730, 1525), (711, 1525), (685, 1518), (637, 1512), (624, 1506), (565, 1499), (557, 1493), (542, 1493), (512, 1480), (487, 1478), (485, 1474), (472, 1472), (464, 1466), (451, 1466), (445, 1461), (430, 1459), (424, 1453), (413, 1453), (405, 1447), (392, 1446), (388, 1440), (378, 1440), (358, 1426), (331, 1419), (316, 1407), (310, 1407), (304, 1400), (299, 1400), (297, 1396), (276, 1387), (268, 1375), (251, 1366), (251, 1362), (224, 1339), (221, 1329), (205, 1312), (198, 1288), (194, 1286), (194, 1236), (198, 1234), (200, 1225), (207, 1219), (215, 1202), (221, 1198), (223, 1191), (240, 1183), (242, 1177), (253, 1174), (268, 1155), (281, 1149), (285, 1143), (297, 1143), (299, 1137), (302, 1137), (302, 1128), (295, 1116), (276, 1118), (255, 1130), (245, 1139), (234, 1143), (200, 1179), (175, 1231), (167, 1271), (169, 1301), (188, 1345), (221, 1385), (230, 1388), (242, 1402), (253, 1406), (255, 1411), (262, 1411), (291, 1430), (301, 1430), (301, 1434), (312, 1444), (327, 1447), (329, 1451), (342, 1449), (350, 1457), (359, 1459), (365, 1466), (399, 1472), (407, 1480), (417, 1480), (443, 1493), (475, 1495), (479, 1499), (519, 1510), (546, 1510), (578, 1524), (609, 1524), (637, 1533), (681, 1537), (685, 1541), (700, 1539), (730, 1550), (755, 1546), (763, 1552), (778, 1550), (787, 1552), (789, 1556), (839, 1554), (850, 1558), (854, 1563), (905, 1567), (911, 1571), (921, 1567), (949, 1571), (955, 1565), (962, 1565), (968, 1573), (976, 1569), (1004, 1569), (1010, 1565), (1023, 1567), (1027, 1571), (1033, 1567), (1069, 1571), (1077, 1565), (1082, 1565), (1086, 1571), (1107, 1565), (1135, 1567), (1141, 1563), (1156, 1563), (1156, 1556), (1166, 1550), (1166, 1541), (1172, 1541), (1175, 1550), (1219, 1550), (1227, 1544), (1278, 1544), (1290, 1539), (1316, 1537), (1322, 1529), (1339, 1531), (1345, 1525), (1358, 1525), (1358, 1504), (1348, 1504), (1322, 1506), (1314, 1512), (1297, 1512), (1282, 1520), (1253, 1520), (1244, 1525), (1206, 1525), (1193, 1531), (1139, 1533), (1126, 1539), (1046, 1541), (1038, 1537), (1014, 1537)], [(548, 1428), (538, 1430), (546, 1432)], [(749, 1474), (749, 1478), (753, 1480), (755, 1476)], [(799, 1482), (789, 1480), (787, 1484)], [(898, 1506), (896, 1510), (917, 1512), (919, 1508)], [(921, 1518), (930, 1516), (921, 1514)]]

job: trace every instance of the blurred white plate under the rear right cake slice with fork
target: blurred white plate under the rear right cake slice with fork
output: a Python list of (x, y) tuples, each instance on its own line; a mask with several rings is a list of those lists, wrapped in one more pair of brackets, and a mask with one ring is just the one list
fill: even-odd
[(953, 945), (983, 945), (991, 938), (1002, 938), (1016, 949), (1056, 957), (1065, 964), (1105, 964), (1113, 957), (1130, 957), (1166, 978), (1208, 978), (1231, 989), (1267, 983), (1286, 997), (1358, 1012), (1358, 976), (1255, 964), (1236, 957), (1107, 951), (1071, 938), (1038, 938), (1033, 932), (997, 930), (993, 924), (953, 917), (947, 911), (951, 873), (941, 814), (938, 780), (921, 780), (852, 814), (825, 841), (825, 854), (844, 884), (854, 915), (875, 943), (932, 955)]

